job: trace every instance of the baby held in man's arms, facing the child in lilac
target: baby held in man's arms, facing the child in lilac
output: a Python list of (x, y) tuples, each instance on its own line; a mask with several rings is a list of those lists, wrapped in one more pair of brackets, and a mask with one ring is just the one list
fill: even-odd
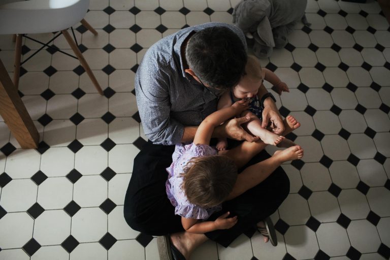
[[(245, 128), (253, 136), (258, 136), (266, 144), (276, 145), (278, 147), (290, 147), (294, 146), (294, 142), (285, 139), (283, 136), (276, 135), (262, 127), (262, 113), (264, 104), (261, 102), (261, 96), (258, 96), (257, 92), (260, 86), (262, 86), (264, 80), (267, 80), (273, 84), (273, 89), (281, 94), (282, 91), (289, 92), (287, 85), (282, 82), (272, 71), (268, 69), (262, 69), (258, 59), (254, 56), (248, 55), (248, 61), (245, 67), (245, 75), (241, 81), (231, 91), (225, 92), (218, 102), (218, 109), (229, 107), (238, 100), (250, 100), (249, 109), (241, 113), (241, 116), (249, 116), (252, 118)], [(288, 124), (294, 124), (295, 128), (300, 126), (296, 122), (296, 119), (292, 116), (287, 116), (283, 121), (285, 128)], [(294, 128), (294, 129), (295, 129)], [(286, 135), (286, 133), (282, 133)], [(226, 139), (219, 139), (217, 144), (218, 150), (226, 149)]]

